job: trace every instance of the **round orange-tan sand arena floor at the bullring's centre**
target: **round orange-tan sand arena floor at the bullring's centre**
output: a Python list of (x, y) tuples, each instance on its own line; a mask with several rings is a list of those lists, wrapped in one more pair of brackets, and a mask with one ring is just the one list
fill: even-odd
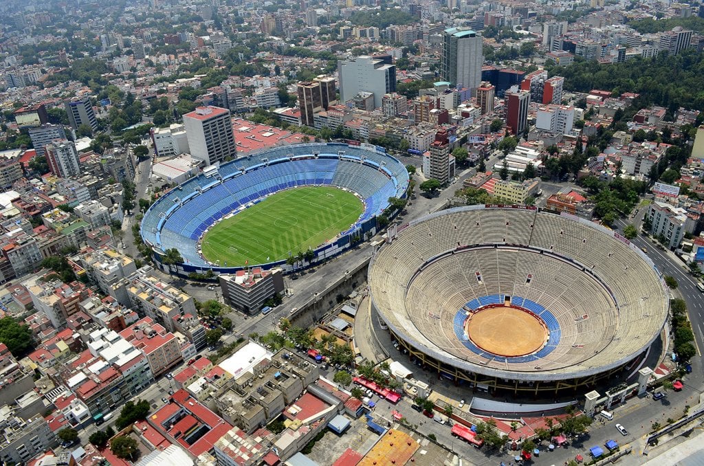
[(465, 332), (478, 348), (514, 358), (539, 351), (548, 341), (543, 320), (517, 306), (488, 306), (467, 317)]

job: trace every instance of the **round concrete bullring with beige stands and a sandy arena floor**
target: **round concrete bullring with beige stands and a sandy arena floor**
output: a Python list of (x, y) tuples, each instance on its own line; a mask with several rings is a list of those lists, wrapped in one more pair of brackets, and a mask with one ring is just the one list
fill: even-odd
[(632, 372), (669, 310), (660, 273), (627, 239), (535, 208), (410, 222), (368, 278), (372, 306), (414, 363), (488, 391), (574, 391)]

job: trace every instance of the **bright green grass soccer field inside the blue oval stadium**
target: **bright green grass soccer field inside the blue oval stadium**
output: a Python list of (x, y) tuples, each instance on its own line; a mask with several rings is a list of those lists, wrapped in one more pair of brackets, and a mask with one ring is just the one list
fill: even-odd
[(301, 187), (272, 194), (210, 228), (201, 241), (212, 263), (263, 264), (317, 248), (362, 214), (357, 196), (333, 187)]

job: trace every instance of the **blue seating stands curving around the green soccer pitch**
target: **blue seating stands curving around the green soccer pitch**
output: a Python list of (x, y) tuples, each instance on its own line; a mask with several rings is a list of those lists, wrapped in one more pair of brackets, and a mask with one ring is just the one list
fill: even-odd
[[(320, 151), (318, 158), (307, 158), (314, 151)], [(343, 159), (338, 151), (344, 151)], [(331, 185), (356, 192), (365, 201), (358, 220), (363, 222), (408, 187), (408, 172), (398, 160), (346, 144), (277, 147), (222, 164), (218, 173), (222, 180), (201, 174), (158, 199), (142, 220), (144, 240), (163, 250), (178, 248), (192, 265), (207, 265), (196, 251), (203, 232), (240, 206), (281, 189)]]

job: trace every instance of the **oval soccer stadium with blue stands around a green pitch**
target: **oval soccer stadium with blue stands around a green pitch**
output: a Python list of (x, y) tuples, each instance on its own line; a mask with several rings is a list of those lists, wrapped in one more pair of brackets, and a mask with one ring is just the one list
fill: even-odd
[(232, 273), (286, 265), (298, 252), (334, 256), (376, 233), (408, 172), (370, 144), (297, 144), (213, 165), (161, 196), (142, 219), (156, 257), (176, 248), (173, 272)]

